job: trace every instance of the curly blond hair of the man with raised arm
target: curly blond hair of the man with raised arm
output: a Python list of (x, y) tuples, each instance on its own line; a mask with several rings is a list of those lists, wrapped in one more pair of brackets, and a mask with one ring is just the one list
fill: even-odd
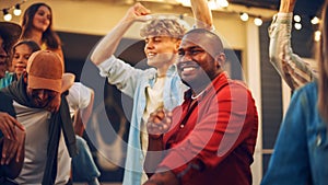
[(155, 35), (181, 39), (185, 33), (185, 26), (176, 19), (154, 19), (140, 30), (140, 35), (142, 37)]

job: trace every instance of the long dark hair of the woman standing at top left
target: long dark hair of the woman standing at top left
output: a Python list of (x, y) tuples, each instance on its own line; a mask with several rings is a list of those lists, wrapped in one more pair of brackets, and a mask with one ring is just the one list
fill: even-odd
[(37, 12), (37, 10), (40, 7), (46, 7), (49, 9), (50, 13), (51, 13), (51, 18), (50, 18), (50, 24), (48, 26), (48, 28), (43, 33), (43, 37), (42, 41), (43, 43), (46, 44), (47, 47), (51, 48), (51, 49), (58, 49), (60, 47), (60, 38), (57, 35), (57, 33), (52, 30), (52, 10), (51, 8), (43, 2), (38, 2), (38, 3), (34, 3), (32, 5), (30, 5), (25, 12), (24, 15), (22, 16), (22, 35), (21, 35), (21, 39), (26, 39), (26, 38), (31, 38), (31, 30), (33, 27), (33, 19)]

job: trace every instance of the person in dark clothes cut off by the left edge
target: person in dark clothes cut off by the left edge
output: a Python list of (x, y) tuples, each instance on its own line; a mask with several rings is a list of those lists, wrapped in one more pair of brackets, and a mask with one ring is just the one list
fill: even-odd
[[(17, 24), (0, 22), (0, 80), (7, 77), (10, 50), (21, 34)], [(24, 159), (25, 128), (15, 119), (13, 102), (0, 92), (0, 184), (15, 184)]]

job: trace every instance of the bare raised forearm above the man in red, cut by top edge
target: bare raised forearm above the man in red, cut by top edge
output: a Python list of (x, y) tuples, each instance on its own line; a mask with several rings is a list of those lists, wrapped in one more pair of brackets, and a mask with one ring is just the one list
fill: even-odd
[(198, 28), (212, 30), (213, 20), (212, 12), (208, 7), (207, 0), (190, 0), (192, 14)]

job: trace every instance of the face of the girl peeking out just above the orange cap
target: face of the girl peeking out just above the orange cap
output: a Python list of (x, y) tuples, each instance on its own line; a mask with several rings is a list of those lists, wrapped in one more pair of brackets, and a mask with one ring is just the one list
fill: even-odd
[(12, 58), (12, 67), (17, 77), (26, 70), (27, 60), (32, 55), (32, 49), (26, 44), (21, 44), (15, 47), (13, 58)]

